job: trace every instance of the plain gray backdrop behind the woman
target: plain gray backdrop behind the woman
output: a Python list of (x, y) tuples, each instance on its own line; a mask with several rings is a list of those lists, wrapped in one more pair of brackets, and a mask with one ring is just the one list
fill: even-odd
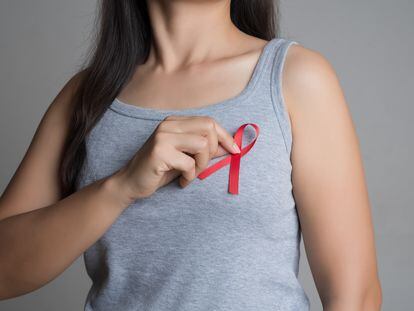
[[(75, 73), (94, 0), (0, 2), (0, 189), (9, 182), (47, 106)], [(335, 67), (359, 136), (376, 234), (383, 310), (409, 310), (412, 263), (412, 0), (282, 1), (282, 35)], [(411, 133), (411, 135), (410, 135)], [(319, 298), (301, 244), (300, 280)], [(90, 281), (80, 257), (61, 276), (0, 310), (81, 310)]]

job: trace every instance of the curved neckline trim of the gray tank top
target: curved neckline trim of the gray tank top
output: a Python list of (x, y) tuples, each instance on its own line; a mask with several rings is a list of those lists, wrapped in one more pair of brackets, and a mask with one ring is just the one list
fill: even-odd
[(112, 101), (109, 109), (115, 111), (121, 115), (129, 116), (133, 118), (149, 119), (149, 120), (163, 120), (166, 116), (171, 114), (180, 115), (194, 115), (199, 113), (216, 112), (223, 109), (232, 107), (233, 104), (246, 101), (253, 93), (257, 82), (260, 79), (260, 75), (263, 72), (263, 67), (267, 63), (270, 50), (272, 46), (276, 45), (276, 42), (281, 40), (280, 37), (270, 39), (262, 48), (256, 65), (253, 69), (253, 73), (244, 89), (237, 95), (230, 97), (225, 100), (221, 100), (209, 105), (200, 107), (184, 108), (184, 109), (157, 109), (157, 108), (146, 108), (137, 105), (129, 104), (119, 100), (117, 97)]

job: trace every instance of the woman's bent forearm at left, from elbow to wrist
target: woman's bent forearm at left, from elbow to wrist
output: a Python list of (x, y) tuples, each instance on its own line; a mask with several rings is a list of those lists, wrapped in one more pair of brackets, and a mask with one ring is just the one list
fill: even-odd
[(0, 299), (51, 281), (98, 240), (128, 206), (119, 186), (111, 176), (0, 221)]

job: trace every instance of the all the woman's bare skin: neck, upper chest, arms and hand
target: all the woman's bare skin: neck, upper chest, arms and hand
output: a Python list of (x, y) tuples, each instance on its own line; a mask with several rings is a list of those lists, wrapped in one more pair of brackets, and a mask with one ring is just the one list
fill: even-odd
[[(184, 109), (244, 88), (266, 41), (234, 27), (229, 1), (148, 3), (155, 44), (118, 98), (142, 107)], [(187, 186), (208, 159), (234, 152), (232, 137), (214, 120), (171, 116), (124, 168), (62, 198), (57, 169), (78, 78), (51, 103), (0, 198), (0, 299), (53, 280), (132, 200), (176, 176)], [(380, 310), (358, 139), (335, 72), (321, 54), (292, 46), (283, 94), (292, 124), (294, 195), (324, 310)]]

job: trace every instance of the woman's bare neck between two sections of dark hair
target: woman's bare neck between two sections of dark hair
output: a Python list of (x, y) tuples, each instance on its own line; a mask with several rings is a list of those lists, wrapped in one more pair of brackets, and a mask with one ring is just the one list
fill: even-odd
[(242, 33), (231, 21), (230, 1), (148, 1), (152, 27), (150, 66), (163, 71), (226, 54)]

